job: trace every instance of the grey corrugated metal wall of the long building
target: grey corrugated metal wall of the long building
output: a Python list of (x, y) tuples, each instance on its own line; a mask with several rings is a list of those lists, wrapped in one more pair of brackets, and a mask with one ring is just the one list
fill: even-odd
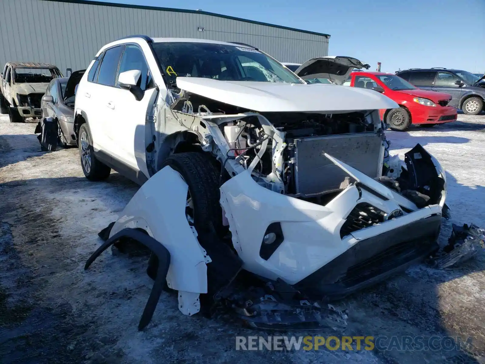
[[(22, 21), (22, 19), (28, 19)], [(203, 32), (197, 30), (204, 27)], [(62, 72), (85, 68), (106, 43), (131, 34), (251, 44), (281, 62), (328, 55), (321, 35), (205, 14), (47, 0), (0, 0), (0, 67), (45, 62)]]

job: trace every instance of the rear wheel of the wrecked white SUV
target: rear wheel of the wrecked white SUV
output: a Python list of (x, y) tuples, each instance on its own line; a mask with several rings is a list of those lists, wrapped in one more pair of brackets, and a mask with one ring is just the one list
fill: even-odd
[[(84, 142), (86, 144), (83, 144)], [(111, 168), (96, 159), (93, 149), (93, 138), (86, 123), (82, 124), (79, 129), (79, 157), (82, 172), (88, 180), (102, 181), (109, 177)], [(83, 159), (83, 157), (86, 159)], [(86, 161), (89, 165), (85, 165), (83, 161)]]

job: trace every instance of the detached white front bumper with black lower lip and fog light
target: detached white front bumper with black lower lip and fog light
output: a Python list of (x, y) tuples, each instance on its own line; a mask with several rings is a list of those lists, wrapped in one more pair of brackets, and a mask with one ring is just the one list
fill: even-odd
[[(444, 174), (433, 161), (432, 172)], [(324, 206), (272, 192), (245, 172), (221, 186), (221, 205), (244, 269), (281, 278), (309, 296), (337, 298), (438, 248), (445, 186), (436, 204), (418, 208), (349, 165), (334, 163), (357, 182)]]

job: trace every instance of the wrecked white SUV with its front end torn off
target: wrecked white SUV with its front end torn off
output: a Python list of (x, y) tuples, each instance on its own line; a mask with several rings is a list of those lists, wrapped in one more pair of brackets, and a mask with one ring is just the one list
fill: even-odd
[(307, 84), (244, 44), (106, 45), (76, 94), (81, 166), (142, 186), (85, 268), (112, 244), (152, 251), (140, 329), (164, 286), (183, 314), (225, 302), (259, 328), (342, 327), (328, 300), (429, 256), (447, 212), (433, 156), (389, 155), (379, 109), (395, 107), (373, 90)]

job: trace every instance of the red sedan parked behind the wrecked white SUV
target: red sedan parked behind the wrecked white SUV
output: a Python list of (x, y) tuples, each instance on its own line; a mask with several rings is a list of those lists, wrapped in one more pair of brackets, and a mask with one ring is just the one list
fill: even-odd
[(392, 130), (406, 130), (411, 124), (434, 126), (455, 121), (453, 106), (447, 106), (452, 96), (442, 92), (421, 90), (401, 77), (382, 72), (352, 72), (345, 84), (371, 88), (399, 104), (399, 108), (380, 110), (381, 118)]

